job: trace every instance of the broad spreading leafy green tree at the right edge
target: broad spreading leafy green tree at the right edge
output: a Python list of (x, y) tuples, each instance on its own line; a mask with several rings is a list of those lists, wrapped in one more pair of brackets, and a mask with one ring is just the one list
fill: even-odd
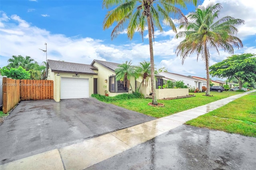
[(212, 76), (237, 79), (239, 89), (242, 89), (244, 82), (256, 82), (256, 54), (232, 55), (209, 69)]

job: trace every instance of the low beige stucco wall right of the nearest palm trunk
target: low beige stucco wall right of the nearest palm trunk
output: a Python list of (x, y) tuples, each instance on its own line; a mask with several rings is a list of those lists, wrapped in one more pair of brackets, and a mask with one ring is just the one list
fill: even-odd
[(156, 99), (188, 95), (188, 89), (156, 89)]

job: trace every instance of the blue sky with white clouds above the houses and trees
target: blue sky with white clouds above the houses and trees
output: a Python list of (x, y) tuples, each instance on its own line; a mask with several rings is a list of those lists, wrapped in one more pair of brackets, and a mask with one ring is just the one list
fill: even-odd
[[(256, 53), (256, 2), (241, 0), (199, 0), (199, 5), (221, 3), (222, 16), (245, 20), (238, 26), (238, 38), (243, 49), (234, 54)], [(184, 14), (196, 7), (188, 6)], [(74, 63), (92, 63), (93, 59), (123, 63), (132, 60), (133, 65), (150, 61), (147, 32), (144, 41), (136, 33), (133, 40), (120, 34), (111, 40), (113, 27), (103, 30), (102, 22), (107, 10), (101, 0), (1, 0), (0, 1), (0, 67), (8, 64), (12, 55), (30, 56), (38, 63), (47, 58)], [(154, 60), (156, 68), (166, 67), (169, 72), (206, 77), (204, 62), (191, 55), (181, 64), (175, 50), (182, 39), (174, 39), (175, 33), (168, 27), (164, 32), (155, 30)], [(39, 49), (40, 48), (40, 49)], [(220, 55), (210, 50), (210, 65), (222, 61), (230, 54), (220, 50)], [(214, 78), (216, 79), (216, 78)]]

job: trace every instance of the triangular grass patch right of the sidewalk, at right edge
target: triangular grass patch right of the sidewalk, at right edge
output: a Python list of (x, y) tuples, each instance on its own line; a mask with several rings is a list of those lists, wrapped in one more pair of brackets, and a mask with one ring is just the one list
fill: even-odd
[(186, 124), (256, 137), (256, 92), (240, 97)]

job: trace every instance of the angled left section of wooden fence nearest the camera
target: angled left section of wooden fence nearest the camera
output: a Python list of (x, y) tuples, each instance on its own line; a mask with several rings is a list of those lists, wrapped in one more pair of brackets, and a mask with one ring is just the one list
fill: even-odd
[(3, 77), (3, 112), (8, 113), (20, 102), (20, 80)]

